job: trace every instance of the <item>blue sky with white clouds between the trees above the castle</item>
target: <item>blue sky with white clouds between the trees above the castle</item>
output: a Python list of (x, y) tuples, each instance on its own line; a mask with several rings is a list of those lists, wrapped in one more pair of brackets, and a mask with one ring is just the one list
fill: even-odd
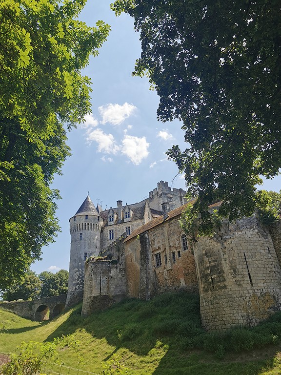
[[(98, 57), (90, 58), (83, 74), (92, 80), (92, 114), (68, 133), (70, 156), (52, 187), (60, 190), (57, 217), (61, 232), (55, 243), (42, 249), (42, 260), (31, 269), (56, 272), (69, 269), (69, 219), (75, 215), (88, 191), (103, 209), (116, 201), (133, 204), (147, 198), (161, 180), (170, 187), (185, 188), (178, 168), (165, 152), (173, 145), (185, 148), (181, 123), (157, 121), (159, 97), (149, 89), (147, 78), (132, 77), (141, 55), (133, 19), (116, 17), (112, 0), (88, 0), (80, 20), (95, 26), (102, 20), (111, 26)], [(279, 191), (281, 176), (265, 181), (262, 188)]]

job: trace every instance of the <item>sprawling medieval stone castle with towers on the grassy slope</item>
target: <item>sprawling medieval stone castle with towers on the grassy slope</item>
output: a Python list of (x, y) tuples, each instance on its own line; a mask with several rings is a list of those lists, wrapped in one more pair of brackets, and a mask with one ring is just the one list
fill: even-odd
[(178, 221), (185, 192), (161, 181), (147, 199), (102, 210), (86, 197), (70, 219), (66, 306), (82, 315), (122, 298), (199, 292), (202, 326), (253, 326), (281, 310), (280, 225), (225, 220), (213, 237), (191, 241)]

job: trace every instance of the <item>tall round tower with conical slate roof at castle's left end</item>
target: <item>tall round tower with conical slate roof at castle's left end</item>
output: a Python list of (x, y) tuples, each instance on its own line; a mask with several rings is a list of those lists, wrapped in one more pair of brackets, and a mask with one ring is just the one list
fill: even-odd
[(103, 219), (89, 195), (69, 220), (71, 245), (66, 307), (83, 299), (85, 260), (100, 253), (100, 231)]

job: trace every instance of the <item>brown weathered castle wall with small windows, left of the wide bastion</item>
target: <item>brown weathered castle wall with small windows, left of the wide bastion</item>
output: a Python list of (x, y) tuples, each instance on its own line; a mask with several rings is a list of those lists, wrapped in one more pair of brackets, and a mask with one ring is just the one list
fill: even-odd
[[(128, 296), (150, 299), (180, 289), (198, 292), (193, 251), (191, 247), (182, 250), (183, 233), (178, 220), (175, 217), (164, 221), (125, 243)], [(157, 265), (156, 256), (161, 265)]]

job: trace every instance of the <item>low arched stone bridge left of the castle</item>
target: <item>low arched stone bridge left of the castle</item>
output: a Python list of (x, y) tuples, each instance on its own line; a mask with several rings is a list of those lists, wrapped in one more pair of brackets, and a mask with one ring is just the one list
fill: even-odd
[(66, 294), (45, 297), (33, 301), (3, 302), (0, 308), (15, 312), (23, 318), (41, 322), (53, 319), (64, 309)]

